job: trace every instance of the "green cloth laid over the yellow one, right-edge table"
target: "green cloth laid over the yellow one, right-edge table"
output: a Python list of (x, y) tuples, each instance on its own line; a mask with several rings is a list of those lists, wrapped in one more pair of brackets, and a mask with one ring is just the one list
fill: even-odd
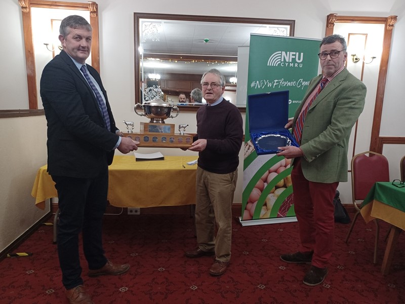
[(405, 187), (399, 188), (392, 185), (392, 182), (379, 181), (374, 184), (369, 194), (361, 204), (361, 207), (369, 204), (373, 200), (394, 207), (405, 212)]

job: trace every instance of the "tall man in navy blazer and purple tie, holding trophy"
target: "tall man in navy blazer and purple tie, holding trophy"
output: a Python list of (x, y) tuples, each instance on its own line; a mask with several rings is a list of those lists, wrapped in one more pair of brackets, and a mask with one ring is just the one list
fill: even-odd
[(59, 40), (63, 50), (46, 65), (41, 78), (48, 171), (59, 198), (58, 255), (69, 302), (93, 303), (83, 286), (78, 236), (82, 232), (90, 277), (129, 270), (129, 264), (113, 264), (104, 256), (101, 226), (114, 149), (129, 153), (139, 142), (121, 137), (100, 75), (85, 63), (91, 25), (80, 16), (66, 17)]

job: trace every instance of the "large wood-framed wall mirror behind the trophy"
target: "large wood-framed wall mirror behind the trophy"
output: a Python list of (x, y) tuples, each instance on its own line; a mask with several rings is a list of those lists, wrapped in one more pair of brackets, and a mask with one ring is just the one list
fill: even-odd
[[(135, 102), (159, 95), (195, 111), (201, 103), (191, 103), (190, 92), (217, 68), (224, 97), (246, 107), (250, 33), (293, 36), (294, 27), (294, 20), (134, 13)], [(179, 103), (180, 93), (186, 102)]]

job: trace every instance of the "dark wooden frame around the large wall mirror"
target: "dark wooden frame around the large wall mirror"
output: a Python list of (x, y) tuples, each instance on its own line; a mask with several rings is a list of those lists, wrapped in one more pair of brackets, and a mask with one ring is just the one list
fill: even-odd
[[(243, 17), (221, 17), (221, 16), (198, 16), (198, 15), (176, 15), (176, 14), (151, 14), (151, 13), (134, 13), (134, 36), (135, 36), (135, 103), (140, 102), (140, 62), (139, 62), (139, 21), (140, 19), (165, 19), (181, 21), (203, 21), (203, 22), (224, 22), (224, 23), (247, 23), (247, 24), (279, 24), (290, 26), (290, 36), (294, 36), (295, 20), (284, 19), (266, 19), (266, 18), (243, 18)], [(184, 56), (183, 56), (184, 57)], [(195, 112), (198, 107), (182, 106), (179, 108), (182, 112)], [(244, 112), (246, 107), (239, 107)]]

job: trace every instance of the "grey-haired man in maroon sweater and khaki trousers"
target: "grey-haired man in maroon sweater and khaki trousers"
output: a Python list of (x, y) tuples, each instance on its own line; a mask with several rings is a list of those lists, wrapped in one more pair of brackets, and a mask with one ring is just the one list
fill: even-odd
[(210, 275), (220, 276), (231, 257), (231, 207), (244, 131), (238, 108), (222, 97), (225, 78), (221, 72), (217, 69), (205, 72), (201, 86), (207, 105), (197, 111), (197, 135), (189, 148), (198, 151), (195, 201), (198, 247), (185, 254), (215, 255)]

